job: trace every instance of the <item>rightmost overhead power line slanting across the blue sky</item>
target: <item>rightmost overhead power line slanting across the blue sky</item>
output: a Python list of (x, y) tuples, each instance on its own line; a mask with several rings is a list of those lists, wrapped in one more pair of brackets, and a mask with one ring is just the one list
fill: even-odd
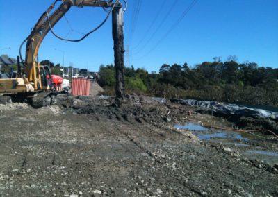
[(176, 28), (179, 23), (183, 20), (184, 17), (186, 17), (186, 15), (188, 14), (188, 12), (190, 12), (190, 10), (197, 4), (198, 0), (193, 0), (190, 5), (188, 6), (188, 8), (186, 8), (186, 10), (183, 11), (182, 15), (179, 17), (179, 19), (177, 19), (177, 21), (171, 26), (171, 28), (165, 33), (165, 35), (163, 35), (163, 37), (161, 37), (161, 40), (159, 40), (156, 45), (154, 45), (154, 47), (152, 47), (152, 49), (150, 49), (147, 53), (145, 53), (145, 55), (143, 55), (141, 58), (138, 58), (136, 60), (140, 60), (142, 58), (145, 58), (145, 56), (149, 55), (149, 53), (152, 53), (152, 51), (154, 51), (154, 49), (156, 49), (156, 47), (161, 44), (161, 42), (163, 42), (163, 40), (165, 40), (165, 38), (167, 37), (167, 35), (169, 35), (174, 28)]

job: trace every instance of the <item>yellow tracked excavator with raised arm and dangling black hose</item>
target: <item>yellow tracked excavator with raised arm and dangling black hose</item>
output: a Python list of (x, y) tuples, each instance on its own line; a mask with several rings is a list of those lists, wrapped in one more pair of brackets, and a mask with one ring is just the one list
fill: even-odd
[[(54, 10), (56, 3), (62, 1), (60, 6)], [(51, 96), (56, 94), (51, 82), (51, 71), (48, 67), (40, 65), (38, 62), (38, 51), (40, 49), (40, 44), (44, 37), (51, 31), (54, 33), (52, 27), (65, 15), (65, 13), (72, 8), (72, 6), (77, 6), (83, 8), (83, 6), (91, 7), (101, 7), (108, 12), (108, 15), (104, 24), (112, 12), (115, 6), (122, 6), (119, 0), (56, 0), (47, 9), (46, 12), (42, 14), (38, 22), (33, 27), (31, 34), (28, 35), (26, 40), (21, 44), (19, 54), (17, 57), (17, 75), (11, 75), (10, 78), (0, 78), (0, 97), (10, 96), (17, 99), (28, 99), (31, 101), (33, 107), (40, 108), (44, 105), (49, 105), (51, 103)], [(109, 10), (110, 9), (110, 10)], [(101, 25), (102, 25), (101, 24)], [(100, 26), (101, 26), (100, 25)], [(98, 26), (97, 28), (99, 28)], [(90, 33), (97, 30), (95, 28)], [(67, 40), (72, 42), (78, 42), (88, 37), (90, 33), (86, 34), (80, 40)], [(56, 37), (56, 35), (54, 33)], [(60, 37), (58, 37), (60, 38)], [(61, 39), (61, 38), (60, 38)], [(62, 39), (66, 40), (66, 39)], [(21, 49), (26, 43), (26, 57), (25, 60), (22, 58)]]

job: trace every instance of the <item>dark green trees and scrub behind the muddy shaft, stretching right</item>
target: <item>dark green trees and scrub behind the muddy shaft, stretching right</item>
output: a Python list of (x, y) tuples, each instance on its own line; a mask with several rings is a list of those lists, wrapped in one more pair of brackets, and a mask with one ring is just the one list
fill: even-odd
[[(101, 65), (99, 83), (113, 94), (113, 65)], [(192, 68), (186, 63), (165, 64), (159, 74), (126, 68), (125, 83), (127, 93), (278, 106), (278, 69), (258, 67), (255, 62), (240, 64), (234, 56), (226, 62), (215, 58)]]

